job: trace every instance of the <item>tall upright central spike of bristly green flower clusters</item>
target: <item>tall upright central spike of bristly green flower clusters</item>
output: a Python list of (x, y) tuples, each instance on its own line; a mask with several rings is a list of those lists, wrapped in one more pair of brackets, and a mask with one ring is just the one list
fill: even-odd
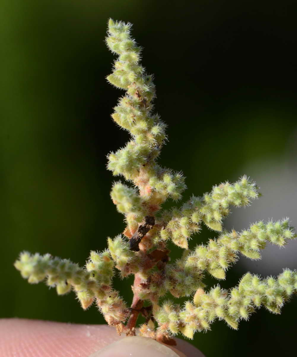
[(114, 175), (123, 175), (126, 180), (133, 181), (141, 195), (151, 205), (158, 206), (168, 197), (180, 199), (186, 185), (180, 172), (163, 169), (155, 162), (166, 139), (166, 125), (151, 112), (155, 86), (152, 76), (139, 65), (141, 48), (131, 38), (130, 27), (130, 24), (109, 20), (106, 43), (119, 58), (107, 80), (126, 89), (126, 95), (120, 98), (112, 118), (130, 132), (132, 140), (109, 155), (108, 169)]

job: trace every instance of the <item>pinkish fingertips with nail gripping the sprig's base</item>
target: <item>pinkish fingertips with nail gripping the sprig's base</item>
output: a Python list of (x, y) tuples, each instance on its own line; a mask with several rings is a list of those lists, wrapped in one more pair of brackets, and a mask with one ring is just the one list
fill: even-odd
[(0, 320), (0, 356), (17, 357), (204, 357), (188, 342), (168, 347), (146, 337), (118, 336), (106, 325), (26, 320)]

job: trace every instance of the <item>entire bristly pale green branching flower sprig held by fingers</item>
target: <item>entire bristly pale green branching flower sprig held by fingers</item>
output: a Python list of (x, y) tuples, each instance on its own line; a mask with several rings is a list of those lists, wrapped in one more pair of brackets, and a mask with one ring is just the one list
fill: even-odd
[[(265, 279), (247, 273), (229, 291), (215, 286), (207, 292), (203, 283), (205, 272), (225, 279), (226, 270), (239, 253), (259, 259), (267, 242), (283, 246), (296, 237), (288, 219), (259, 221), (242, 232), (223, 230), (230, 206), (247, 206), (259, 196), (254, 182), (244, 176), (232, 184), (221, 183), (202, 197), (193, 196), (180, 208), (161, 211), (167, 199), (182, 198), (186, 185), (181, 172), (157, 163), (166, 140), (166, 125), (152, 112), (155, 86), (152, 75), (140, 65), (141, 47), (132, 39), (130, 28), (130, 24), (109, 20), (106, 37), (110, 50), (119, 56), (107, 80), (126, 90), (112, 118), (131, 135), (125, 147), (108, 156), (108, 169), (128, 182), (117, 181), (111, 190), (126, 228), (114, 239), (108, 238), (106, 251), (92, 251), (84, 268), (49, 254), (27, 252), (21, 253), (15, 267), (30, 283), (46, 279), (58, 294), (73, 290), (84, 309), (96, 302), (105, 320), (119, 333), (135, 335), (137, 317), (144, 315), (146, 323), (140, 326), (140, 335), (166, 343), (174, 343), (171, 337), (179, 332), (192, 338), (196, 331), (209, 330), (215, 319), (237, 329), (238, 322), (260, 306), (280, 313), (283, 304), (297, 292), (296, 271), (286, 269), (277, 278)], [(189, 238), (202, 224), (220, 232), (219, 236), (190, 251)], [(181, 259), (169, 263), (168, 246), (172, 243), (184, 252)], [(122, 277), (135, 275), (130, 308), (112, 287), (115, 270)], [(164, 301), (170, 295), (188, 296), (190, 300), (181, 307)]]

